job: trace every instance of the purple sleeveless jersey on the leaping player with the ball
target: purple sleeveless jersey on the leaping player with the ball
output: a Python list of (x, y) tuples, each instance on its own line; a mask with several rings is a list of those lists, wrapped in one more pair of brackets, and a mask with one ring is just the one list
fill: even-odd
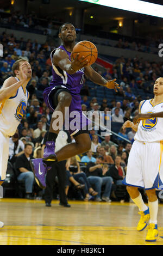
[[(69, 59), (71, 60), (71, 52), (68, 52), (63, 45), (60, 45), (59, 48), (64, 50), (68, 56)], [(51, 61), (53, 59), (53, 55), (55, 53), (54, 49), (51, 52)], [(53, 63), (53, 62), (52, 62)], [(53, 75), (53, 80), (50, 83), (50, 86), (65, 86), (68, 90), (70, 90), (70, 93), (73, 94), (79, 94), (80, 90), (83, 86), (83, 80), (84, 80), (84, 68), (80, 69), (73, 75), (69, 75), (65, 70), (60, 69), (58, 66), (53, 65), (52, 69), (52, 75)]]

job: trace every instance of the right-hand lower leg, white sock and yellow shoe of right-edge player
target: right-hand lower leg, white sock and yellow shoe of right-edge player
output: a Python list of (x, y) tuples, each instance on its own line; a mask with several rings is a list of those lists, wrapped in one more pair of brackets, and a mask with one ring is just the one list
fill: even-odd
[(146, 236), (146, 241), (155, 242), (158, 236), (158, 198), (155, 193), (155, 188), (153, 190), (146, 190), (148, 197), (148, 206), (150, 213), (150, 220), (148, 225), (148, 233)]

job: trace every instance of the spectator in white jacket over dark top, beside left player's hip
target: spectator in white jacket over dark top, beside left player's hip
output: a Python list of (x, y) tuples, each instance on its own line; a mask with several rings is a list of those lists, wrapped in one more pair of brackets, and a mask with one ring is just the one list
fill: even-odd
[(24, 153), (24, 143), (19, 139), (18, 133), (9, 138), (9, 161), (13, 164), (17, 157)]

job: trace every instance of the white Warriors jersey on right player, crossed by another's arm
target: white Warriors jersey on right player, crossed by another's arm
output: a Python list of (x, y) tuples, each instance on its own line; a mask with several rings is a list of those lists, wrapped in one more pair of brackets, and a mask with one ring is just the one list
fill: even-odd
[[(156, 113), (163, 111), (163, 101), (153, 105), (151, 100), (142, 103), (141, 113)], [(137, 141), (156, 142), (163, 140), (163, 118), (151, 118), (142, 120), (139, 123), (137, 132), (134, 137)]]

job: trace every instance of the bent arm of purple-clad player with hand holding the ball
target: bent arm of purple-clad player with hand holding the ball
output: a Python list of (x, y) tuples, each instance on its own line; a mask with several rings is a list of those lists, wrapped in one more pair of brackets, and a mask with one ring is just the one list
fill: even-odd
[(84, 60), (84, 56), (78, 59), (79, 54), (77, 54), (76, 58), (73, 60), (71, 56), (71, 61), (69, 59), (68, 54), (61, 50), (60, 48), (55, 51), (53, 55), (53, 64), (55, 66), (59, 66), (60, 69), (65, 70), (68, 74), (73, 75), (78, 70), (84, 68), (88, 64), (88, 60)]

